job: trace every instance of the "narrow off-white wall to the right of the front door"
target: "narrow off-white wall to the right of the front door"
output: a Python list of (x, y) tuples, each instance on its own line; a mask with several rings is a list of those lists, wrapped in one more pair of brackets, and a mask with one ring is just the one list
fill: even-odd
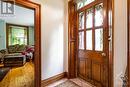
[(127, 0), (114, 0), (114, 87), (121, 86), (127, 64)]

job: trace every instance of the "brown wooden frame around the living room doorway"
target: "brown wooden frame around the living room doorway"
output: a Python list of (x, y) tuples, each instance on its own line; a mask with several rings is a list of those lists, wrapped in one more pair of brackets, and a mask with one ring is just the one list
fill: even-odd
[(41, 87), (41, 5), (29, 0), (15, 0), (15, 4), (34, 10), (35, 21), (35, 53), (34, 53), (34, 72), (35, 87)]

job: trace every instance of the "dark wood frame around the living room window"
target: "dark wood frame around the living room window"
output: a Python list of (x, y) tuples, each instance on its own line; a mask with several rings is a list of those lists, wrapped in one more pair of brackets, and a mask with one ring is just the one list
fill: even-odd
[(27, 45), (29, 45), (29, 26), (6, 23), (6, 47), (8, 48), (9, 46), (8, 29), (10, 29), (10, 26), (25, 27), (27, 29)]

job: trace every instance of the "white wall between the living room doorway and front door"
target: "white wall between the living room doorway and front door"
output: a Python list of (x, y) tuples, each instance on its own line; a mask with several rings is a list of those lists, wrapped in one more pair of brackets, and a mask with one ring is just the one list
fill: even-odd
[[(42, 80), (66, 71), (67, 25), (64, 1), (32, 0), (41, 4)], [(66, 20), (67, 21), (67, 20)], [(64, 62), (65, 61), (65, 62)]]

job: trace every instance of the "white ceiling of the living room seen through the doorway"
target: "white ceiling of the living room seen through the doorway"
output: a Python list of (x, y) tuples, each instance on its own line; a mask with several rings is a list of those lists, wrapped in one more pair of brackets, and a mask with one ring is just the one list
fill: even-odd
[(14, 16), (0, 16), (6, 23), (34, 26), (34, 10), (15, 5)]

